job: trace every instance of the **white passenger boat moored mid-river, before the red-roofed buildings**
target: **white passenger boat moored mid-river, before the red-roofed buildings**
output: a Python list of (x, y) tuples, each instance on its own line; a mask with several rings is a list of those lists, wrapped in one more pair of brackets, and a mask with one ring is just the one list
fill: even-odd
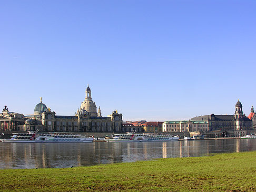
[(170, 142), (178, 140), (179, 136), (165, 133), (143, 133), (135, 134), (114, 134), (112, 137), (105, 137), (106, 142)]

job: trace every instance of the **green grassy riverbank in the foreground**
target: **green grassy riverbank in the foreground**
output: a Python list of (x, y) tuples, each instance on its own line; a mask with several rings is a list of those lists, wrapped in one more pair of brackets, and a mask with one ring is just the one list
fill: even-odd
[(1, 191), (256, 191), (256, 151), (62, 169), (0, 170)]

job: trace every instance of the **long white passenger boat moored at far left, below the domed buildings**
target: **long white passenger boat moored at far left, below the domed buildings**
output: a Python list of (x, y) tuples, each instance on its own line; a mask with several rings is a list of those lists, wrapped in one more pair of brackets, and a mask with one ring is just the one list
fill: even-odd
[(38, 133), (28, 132), (13, 133), (10, 139), (0, 139), (4, 143), (88, 143), (93, 142), (93, 137), (85, 137), (69, 133)]

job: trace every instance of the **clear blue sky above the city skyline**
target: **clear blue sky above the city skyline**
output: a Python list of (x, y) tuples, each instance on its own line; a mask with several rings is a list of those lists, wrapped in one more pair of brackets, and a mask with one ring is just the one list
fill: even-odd
[(0, 107), (74, 115), (85, 98), (123, 120), (256, 107), (255, 0), (1, 1)]

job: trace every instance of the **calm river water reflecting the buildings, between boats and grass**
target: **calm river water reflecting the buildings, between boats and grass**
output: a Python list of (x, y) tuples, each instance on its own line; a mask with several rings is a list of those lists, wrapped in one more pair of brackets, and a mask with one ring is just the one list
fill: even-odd
[(64, 168), (256, 150), (256, 139), (140, 143), (0, 143), (0, 169)]

